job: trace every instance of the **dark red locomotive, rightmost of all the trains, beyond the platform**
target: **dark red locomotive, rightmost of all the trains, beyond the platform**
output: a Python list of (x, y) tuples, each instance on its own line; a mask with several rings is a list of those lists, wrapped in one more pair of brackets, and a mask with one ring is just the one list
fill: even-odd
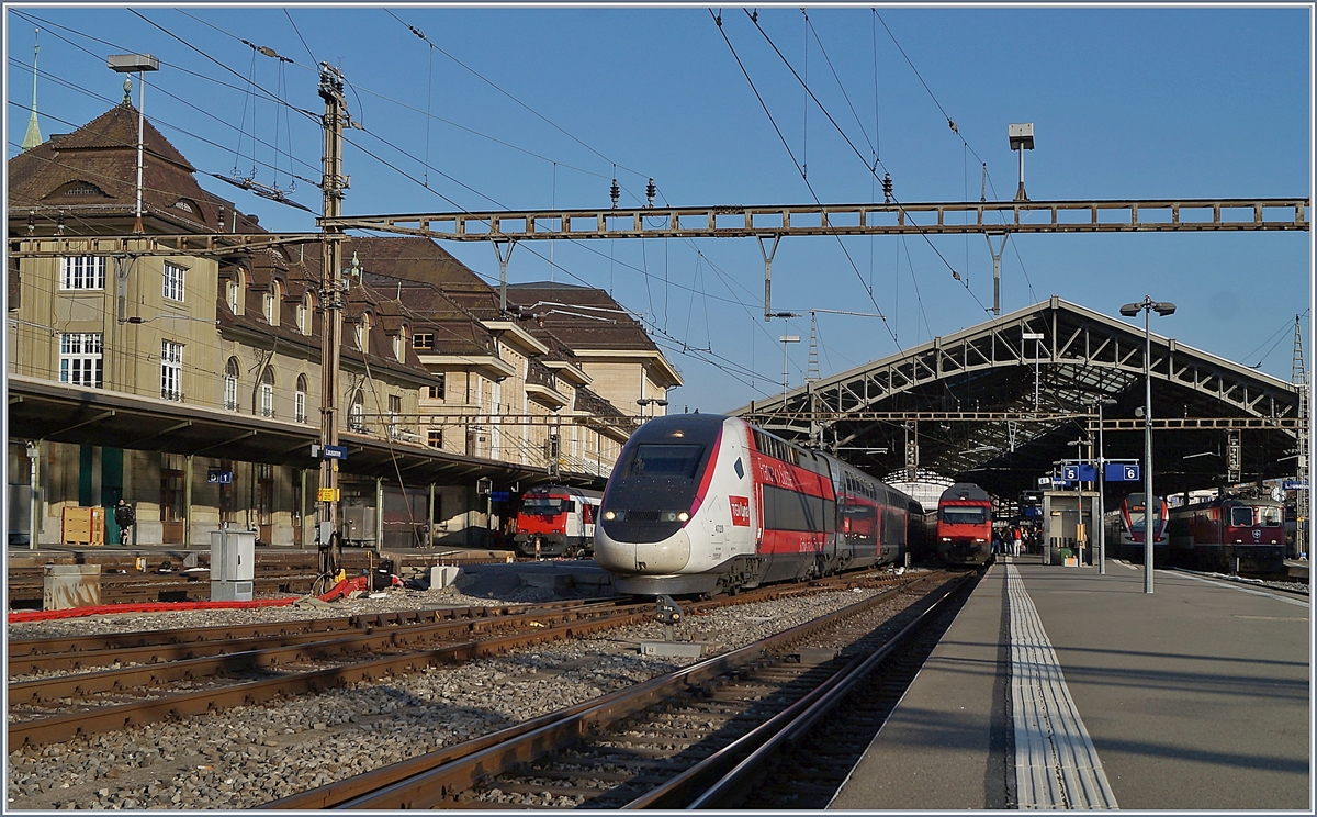
[(1168, 556), (1200, 571), (1279, 573), (1285, 560), (1285, 509), (1274, 499), (1217, 497), (1171, 509)]

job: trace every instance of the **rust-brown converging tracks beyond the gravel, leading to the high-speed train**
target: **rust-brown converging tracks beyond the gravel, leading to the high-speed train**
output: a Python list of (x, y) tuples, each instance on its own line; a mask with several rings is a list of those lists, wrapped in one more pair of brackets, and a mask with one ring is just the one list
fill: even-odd
[[(857, 575), (809, 586), (765, 588), (693, 610), (894, 581), (890, 575)], [(647, 622), (653, 615), (649, 601), (607, 600), (16, 640), (9, 663), (9, 743), (47, 745), (315, 693)]]

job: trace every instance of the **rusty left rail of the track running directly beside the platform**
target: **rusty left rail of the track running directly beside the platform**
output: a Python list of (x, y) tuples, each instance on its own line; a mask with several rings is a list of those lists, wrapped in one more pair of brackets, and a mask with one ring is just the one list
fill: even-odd
[(744, 667), (839, 621), (863, 613), (914, 584), (934, 581), (944, 576), (944, 573), (935, 573), (910, 578), (884, 593), (811, 622), (610, 693), (595, 701), (587, 701), (560, 713), (499, 730), (478, 741), (440, 748), (365, 775), (292, 795), (259, 808), (404, 809), (436, 806), (449, 795), (465, 791), (483, 777), (503, 774), (519, 763), (533, 760), (548, 751), (560, 748), (587, 731), (644, 710), (687, 687), (699, 685), (731, 669)]

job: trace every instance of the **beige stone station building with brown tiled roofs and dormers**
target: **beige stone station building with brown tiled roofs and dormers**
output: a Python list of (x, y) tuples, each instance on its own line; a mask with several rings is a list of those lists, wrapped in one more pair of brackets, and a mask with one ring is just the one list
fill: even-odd
[[(61, 543), (65, 509), (124, 498), (137, 546), (204, 546), (232, 526), (313, 547), (321, 242), (269, 236), (202, 188), (149, 120), (138, 188), (137, 128), (125, 100), (9, 161), (8, 542)], [(579, 348), (554, 331), (577, 307), (624, 315), (602, 291), (558, 293), (558, 315), (503, 311), (428, 239), (342, 246), (352, 540), (498, 544), (511, 505), (491, 497), (602, 486), (641, 415), (681, 385), (633, 319)]]

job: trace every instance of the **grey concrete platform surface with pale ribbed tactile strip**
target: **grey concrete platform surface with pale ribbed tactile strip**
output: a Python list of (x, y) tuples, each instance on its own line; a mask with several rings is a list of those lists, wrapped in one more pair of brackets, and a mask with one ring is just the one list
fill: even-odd
[(1008, 561), (830, 808), (1312, 813), (1308, 600)]

